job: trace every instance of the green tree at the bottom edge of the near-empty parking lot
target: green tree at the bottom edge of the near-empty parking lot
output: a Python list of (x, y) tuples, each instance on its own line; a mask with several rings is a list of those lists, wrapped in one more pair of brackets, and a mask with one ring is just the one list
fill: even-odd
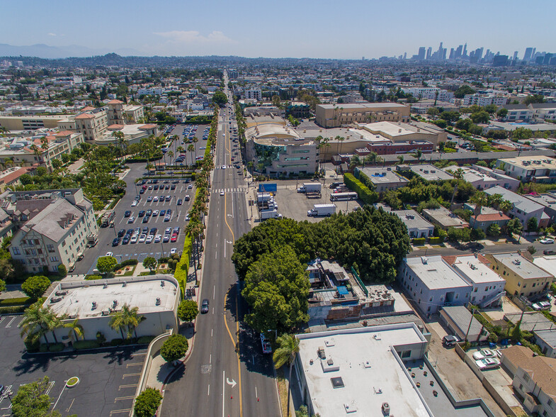
[(54, 417), (57, 411), (49, 412), (50, 396), (46, 394), (50, 379), (43, 377), (30, 384), (21, 385), (11, 401), (11, 413), (15, 417)]

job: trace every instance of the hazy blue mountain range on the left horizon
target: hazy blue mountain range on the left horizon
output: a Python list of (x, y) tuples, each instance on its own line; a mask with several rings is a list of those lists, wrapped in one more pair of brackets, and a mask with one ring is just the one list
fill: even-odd
[(118, 50), (91, 49), (81, 45), (49, 46), (44, 43), (35, 45), (8, 45), (0, 43), (0, 57), (38, 57), (45, 59), (60, 59), (68, 57), (93, 57), (115, 52), (120, 56), (140, 55), (140, 52), (131, 48)]

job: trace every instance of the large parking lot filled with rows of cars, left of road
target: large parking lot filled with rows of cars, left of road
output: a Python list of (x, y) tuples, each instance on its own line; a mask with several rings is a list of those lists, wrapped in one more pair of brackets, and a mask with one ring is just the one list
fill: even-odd
[[(184, 228), (187, 226), (187, 213), (193, 204), (193, 197), (195, 196), (195, 182), (186, 183), (185, 179), (159, 179), (157, 184), (145, 184), (147, 189), (144, 194), (139, 194), (142, 186), (135, 185), (137, 178), (142, 177), (144, 172), (144, 163), (130, 164), (130, 172), (128, 172), (124, 181), (127, 184), (125, 196), (115, 206), (114, 227), (99, 228), (98, 230), (98, 243), (95, 247), (86, 249), (84, 252), (84, 259), (76, 262), (74, 274), (91, 274), (96, 267), (98, 257), (105, 256), (106, 253), (112, 252), (113, 256), (121, 262), (127, 259), (137, 259), (142, 262), (146, 257), (154, 257), (158, 259), (162, 256), (169, 256), (172, 249), (176, 249), (178, 253), (183, 248), (185, 239)], [(167, 183), (165, 183), (167, 181)], [(157, 186), (158, 189), (154, 189)], [(149, 189), (152, 187), (152, 189)], [(160, 187), (163, 187), (161, 190)], [(166, 189), (168, 187), (168, 189)], [(171, 189), (174, 187), (174, 189)], [(191, 187), (191, 188), (190, 188)], [(140, 195), (140, 200), (137, 205), (132, 206), (135, 196)], [(161, 201), (161, 196), (164, 196), (164, 201)], [(169, 201), (166, 197), (170, 196)], [(186, 201), (186, 196), (190, 196), (189, 201)], [(155, 201), (155, 197), (157, 201)], [(181, 204), (178, 204), (181, 199)], [(151, 201), (149, 201), (151, 200)], [(168, 210), (171, 210), (169, 220), (166, 221), (165, 217)], [(147, 211), (152, 211), (151, 216), (147, 216)], [(125, 212), (130, 211), (129, 216), (125, 216)], [(140, 213), (144, 211), (144, 213)], [(154, 211), (157, 211), (157, 216), (154, 216)], [(164, 211), (164, 215), (161, 215)], [(133, 221), (130, 223), (130, 219)], [(147, 218), (147, 221), (144, 221)], [(140, 228), (140, 233), (137, 235), (135, 243), (123, 244), (123, 238), (128, 230)], [(146, 233), (144, 233), (144, 229)], [(164, 241), (166, 228), (179, 228), (176, 241), (171, 242), (171, 234), (168, 241)], [(152, 230), (156, 229), (156, 230)], [(118, 245), (113, 246), (113, 240), (120, 236)], [(144, 236), (144, 241), (140, 242), (140, 236)], [(155, 238), (147, 243), (147, 237), (153, 235), (156, 237), (160, 235), (160, 241), (155, 242)]]

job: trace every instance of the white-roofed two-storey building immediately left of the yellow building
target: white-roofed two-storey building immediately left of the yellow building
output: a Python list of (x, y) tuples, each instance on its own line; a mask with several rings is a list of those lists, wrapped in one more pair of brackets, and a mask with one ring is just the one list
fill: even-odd
[(497, 307), (506, 294), (506, 281), (489, 268), (490, 262), (482, 255), (447, 256), (444, 260), (455, 272), (472, 285), (470, 303), (481, 308)]

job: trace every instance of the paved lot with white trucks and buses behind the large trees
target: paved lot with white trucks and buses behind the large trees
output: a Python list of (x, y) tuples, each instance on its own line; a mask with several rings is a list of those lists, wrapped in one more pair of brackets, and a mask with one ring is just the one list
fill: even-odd
[[(338, 181), (341, 181), (339, 179)], [(327, 179), (324, 187), (321, 188), (321, 196), (317, 199), (310, 199), (303, 193), (297, 192), (297, 187), (301, 187), (304, 182), (312, 182), (310, 180), (280, 180), (278, 184), (278, 191), (274, 199), (278, 204), (278, 213), (283, 217), (293, 218), (296, 221), (310, 221), (315, 223), (321, 221), (322, 217), (307, 216), (307, 211), (313, 208), (314, 204), (336, 204), (336, 213), (340, 211), (343, 213), (351, 212), (356, 207), (361, 207), (363, 204), (359, 200), (351, 201), (330, 201), (330, 195), (334, 190), (329, 188), (331, 181)], [(255, 188), (251, 186), (249, 199), (255, 199), (256, 190), (259, 189), (259, 183), (255, 183)], [(264, 184), (264, 183), (261, 183)], [(321, 181), (322, 184), (322, 181)], [(256, 215), (256, 218), (259, 216)]]

